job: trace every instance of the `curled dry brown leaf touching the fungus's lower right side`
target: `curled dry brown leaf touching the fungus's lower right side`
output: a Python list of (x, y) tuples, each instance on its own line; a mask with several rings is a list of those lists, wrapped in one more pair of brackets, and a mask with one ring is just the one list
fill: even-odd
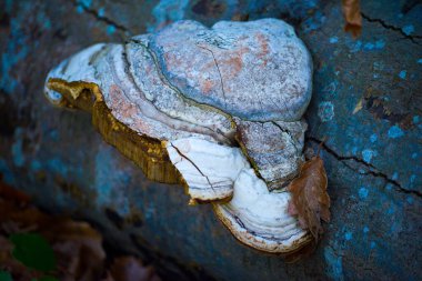
[(324, 162), (316, 155), (303, 163), (299, 177), (288, 187), (292, 193), (289, 213), (298, 215), (300, 225), (309, 229), (318, 241), (323, 232), (321, 219), (330, 221), (330, 197), (326, 193)]

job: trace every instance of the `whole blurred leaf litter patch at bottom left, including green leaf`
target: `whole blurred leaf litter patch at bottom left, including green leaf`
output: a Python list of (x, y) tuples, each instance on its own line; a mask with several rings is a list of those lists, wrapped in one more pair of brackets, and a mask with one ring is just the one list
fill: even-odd
[(14, 281), (160, 280), (133, 257), (115, 259), (108, 270), (102, 235), (89, 223), (42, 212), (0, 179), (1, 271)]

